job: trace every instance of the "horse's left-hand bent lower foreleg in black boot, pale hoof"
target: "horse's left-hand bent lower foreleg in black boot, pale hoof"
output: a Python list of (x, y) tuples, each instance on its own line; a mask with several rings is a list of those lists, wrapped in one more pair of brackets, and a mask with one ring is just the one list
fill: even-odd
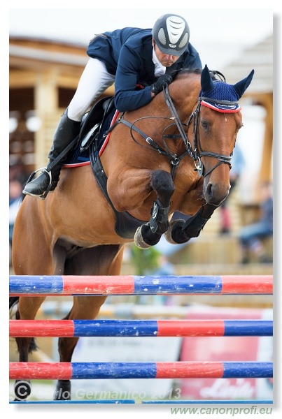
[(150, 220), (136, 230), (134, 242), (141, 249), (148, 249), (160, 241), (169, 227), (169, 205), (174, 193), (174, 182), (169, 172), (155, 170), (151, 175), (150, 186), (157, 193), (151, 209)]

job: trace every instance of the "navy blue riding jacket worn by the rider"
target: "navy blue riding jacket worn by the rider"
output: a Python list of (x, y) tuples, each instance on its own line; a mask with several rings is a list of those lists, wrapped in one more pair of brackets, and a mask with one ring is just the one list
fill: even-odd
[[(90, 41), (87, 54), (103, 61), (108, 73), (115, 75), (115, 107), (120, 112), (140, 108), (152, 100), (150, 85), (156, 80), (152, 29), (124, 28), (104, 32)], [(202, 68), (202, 62), (189, 43), (170, 68)], [(136, 84), (146, 87), (136, 90)]]

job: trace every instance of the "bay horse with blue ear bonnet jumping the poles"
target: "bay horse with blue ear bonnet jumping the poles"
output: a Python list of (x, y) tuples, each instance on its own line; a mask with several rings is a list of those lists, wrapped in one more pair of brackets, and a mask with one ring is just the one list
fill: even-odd
[[(232, 151), (243, 126), (239, 98), (254, 71), (234, 85), (216, 73), (207, 66), (183, 69), (148, 105), (117, 111), (103, 152), (90, 153), (95, 170), (64, 167), (44, 200), (24, 198), (13, 234), (16, 275), (115, 276), (127, 243), (146, 249), (162, 235), (174, 244), (199, 236), (229, 193)], [(176, 211), (188, 219), (170, 222)], [(44, 300), (10, 297), (10, 308), (17, 304), (16, 319), (33, 320)], [(105, 300), (74, 296), (65, 318), (93, 319)], [(71, 362), (77, 341), (59, 338), (60, 362)], [(34, 338), (16, 342), (19, 361), (27, 362)], [(22, 396), (15, 382), (15, 399), (30, 394), (26, 385)], [(71, 382), (58, 380), (54, 399), (70, 394)]]

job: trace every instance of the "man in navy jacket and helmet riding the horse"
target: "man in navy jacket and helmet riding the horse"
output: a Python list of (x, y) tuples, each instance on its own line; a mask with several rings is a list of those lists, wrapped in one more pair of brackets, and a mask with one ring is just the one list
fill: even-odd
[[(66, 161), (65, 156), (57, 157), (78, 135), (80, 122), (92, 102), (113, 82), (115, 108), (125, 112), (146, 105), (171, 83), (167, 68), (202, 68), (199, 54), (189, 38), (186, 20), (171, 13), (159, 17), (153, 29), (127, 27), (95, 35), (87, 48), (90, 59), (76, 94), (55, 131), (48, 166), (26, 184), (23, 193), (44, 199), (48, 191), (54, 191)], [(136, 89), (137, 85), (145, 87)], [(55, 159), (59, 161), (52, 164)]]

